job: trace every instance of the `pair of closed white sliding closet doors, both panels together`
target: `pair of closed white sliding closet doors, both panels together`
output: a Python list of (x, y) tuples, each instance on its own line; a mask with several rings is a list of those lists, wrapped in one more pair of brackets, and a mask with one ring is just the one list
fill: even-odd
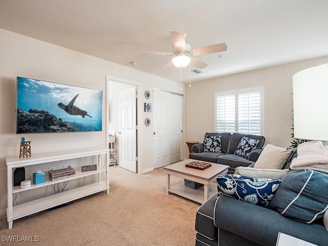
[(182, 160), (182, 96), (154, 90), (154, 168)]

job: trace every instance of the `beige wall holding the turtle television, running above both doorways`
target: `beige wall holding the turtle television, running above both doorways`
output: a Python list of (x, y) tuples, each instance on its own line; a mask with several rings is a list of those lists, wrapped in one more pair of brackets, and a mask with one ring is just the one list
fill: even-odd
[[(31, 141), (32, 155), (60, 150), (78, 150), (89, 146), (106, 148), (106, 75), (134, 81), (140, 84), (140, 93), (153, 88), (184, 93), (180, 83), (163, 79), (135, 69), (120, 66), (90, 55), (68, 50), (49, 43), (0, 29), (0, 217), (7, 207), (6, 157), (19, 155), (22, 135), (15, 134), (16, 76), (53, 81), (104, 91), (103, 131), (87, 133), (26, 134)], [(145, 97), (142, 98), (142, 105)], [(145, 101), (146, 102), (146, 101)], [(150, 114), (141, 110), (140, 117)], [(141, 121), (142, 122), (142, 121)], [(141, 173), (152, 170), (152, 130), (140, 126), (142, 132), (141, 151), (145, 161)]]

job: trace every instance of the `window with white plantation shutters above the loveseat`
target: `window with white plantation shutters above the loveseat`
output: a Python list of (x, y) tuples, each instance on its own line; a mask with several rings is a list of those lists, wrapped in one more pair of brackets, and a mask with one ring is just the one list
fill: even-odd
[(262, 135), (263, 87), (215, 93), (216, 132)]

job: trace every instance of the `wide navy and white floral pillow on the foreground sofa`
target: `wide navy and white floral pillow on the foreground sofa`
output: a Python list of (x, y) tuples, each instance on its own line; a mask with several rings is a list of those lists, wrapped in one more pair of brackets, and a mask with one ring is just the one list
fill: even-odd
[(276, 193), (281, 180), (226, 174), (217, 176), (216, 181), (218, 195), (232, 197), (266, 208)]

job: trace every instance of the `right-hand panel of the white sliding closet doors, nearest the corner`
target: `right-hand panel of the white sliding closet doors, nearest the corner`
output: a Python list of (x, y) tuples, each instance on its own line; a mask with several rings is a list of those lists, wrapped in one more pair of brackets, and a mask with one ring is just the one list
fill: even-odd
[(171, 130), (170, 163), (182, 160), (182, 103), (181, 95), (170, 94)]

